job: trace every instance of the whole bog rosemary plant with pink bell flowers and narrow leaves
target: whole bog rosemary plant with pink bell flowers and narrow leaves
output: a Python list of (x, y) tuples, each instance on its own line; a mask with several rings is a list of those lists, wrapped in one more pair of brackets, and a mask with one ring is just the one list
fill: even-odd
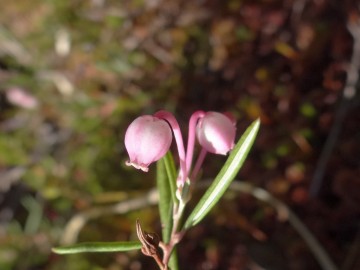
[[(144, 231), (137, 220), (134, 227), (138, 241), (79, 243), (54, 248), (54, 252), (69, 254), (140, 249), (144, 255), (154, 258), (160, 269), (178, 269), (175, 247), (185, 233), (198, 224), (223, 196), (244, 163), (259, 126), (260, 121), (254, 121), (235, 144), (236, 122), (231, 115), (196, 111), (189, 120), (185, 146), (180, 126), (170, 112), (159, 111), (154, 115), (136, 118), (125, 133), (125, 147), (129, 154), (126, 165), (147, 172), (150, 164), (157, 162), (156, 183), (162, 237)], [(177, 169), (169, 151), (173, 137), (177, 146)], [(200, 146), (199, 151), (194, 151), (196, 142)], [(194, 153), (198, 153), (196, 160)], [(192, 186), (196, 185), (207, 154), (229, 154), (229, 157), (199, 202), (190, 209), (190, 214), (184, 216), (191, 199)]]

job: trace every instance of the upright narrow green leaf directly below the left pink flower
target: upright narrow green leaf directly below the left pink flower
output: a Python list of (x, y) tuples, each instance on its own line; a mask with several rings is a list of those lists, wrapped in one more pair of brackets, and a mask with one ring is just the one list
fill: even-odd
[(156, 182), (159, 190), (159, 213), (162, 224), (163, 241), (168, 243), (170, 241), (170, 234), (172, 229), (172, 198), (170, 181), (165, 169), (165, 159), (159, 160), (157, 163)]

